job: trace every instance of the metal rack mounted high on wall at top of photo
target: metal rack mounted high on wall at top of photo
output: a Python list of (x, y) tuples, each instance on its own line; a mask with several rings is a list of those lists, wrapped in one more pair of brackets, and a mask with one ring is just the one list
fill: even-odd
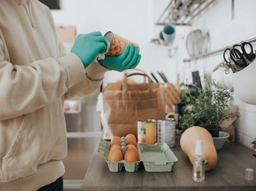
[(202, 11), (209, 7), (215, 0), (171, 0), (155, 25), (191, 25)]

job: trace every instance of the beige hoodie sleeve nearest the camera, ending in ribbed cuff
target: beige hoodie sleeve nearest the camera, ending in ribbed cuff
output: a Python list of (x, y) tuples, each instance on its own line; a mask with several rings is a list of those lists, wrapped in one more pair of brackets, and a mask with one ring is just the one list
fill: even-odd
[(66, 94), (86, 72), (78, 56), (46, 58), (14, 65), (0, 29), (0, 120), (36, 111)]

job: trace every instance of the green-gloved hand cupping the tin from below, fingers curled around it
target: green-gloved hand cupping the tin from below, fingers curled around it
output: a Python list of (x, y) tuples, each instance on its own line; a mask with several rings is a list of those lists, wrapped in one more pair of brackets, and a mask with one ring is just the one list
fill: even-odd
[(125, 47), (125, 50), (119, 56), (107, 56), (105, 59), (100, 59), (99, 63), (109, 70), (123, 71), (133, 69), (140, 62), (139, 50), (137, 46), (130, 44)]

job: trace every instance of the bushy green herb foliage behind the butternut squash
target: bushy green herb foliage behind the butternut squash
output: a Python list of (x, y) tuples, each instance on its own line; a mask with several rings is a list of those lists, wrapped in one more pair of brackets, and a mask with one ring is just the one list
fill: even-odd
[(207, 129), (213, 138), (219, 137), (219, 124), (239, 117), (238, 112), (228, 112), (234, 89), (223, 89), (215, 82), (206, 84), (205, 89), (192, 85), (181, 90), (181, 102), (185, 103), (178, 122), (181, 133), (189, 127), (200, 126)]

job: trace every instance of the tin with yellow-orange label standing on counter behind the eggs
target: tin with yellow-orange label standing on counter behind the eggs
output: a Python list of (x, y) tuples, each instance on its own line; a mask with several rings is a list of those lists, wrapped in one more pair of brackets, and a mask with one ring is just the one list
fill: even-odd
[(157, 142), (157, 121), (156, 120), (139, 120), (138, 142), (154, 145)]

